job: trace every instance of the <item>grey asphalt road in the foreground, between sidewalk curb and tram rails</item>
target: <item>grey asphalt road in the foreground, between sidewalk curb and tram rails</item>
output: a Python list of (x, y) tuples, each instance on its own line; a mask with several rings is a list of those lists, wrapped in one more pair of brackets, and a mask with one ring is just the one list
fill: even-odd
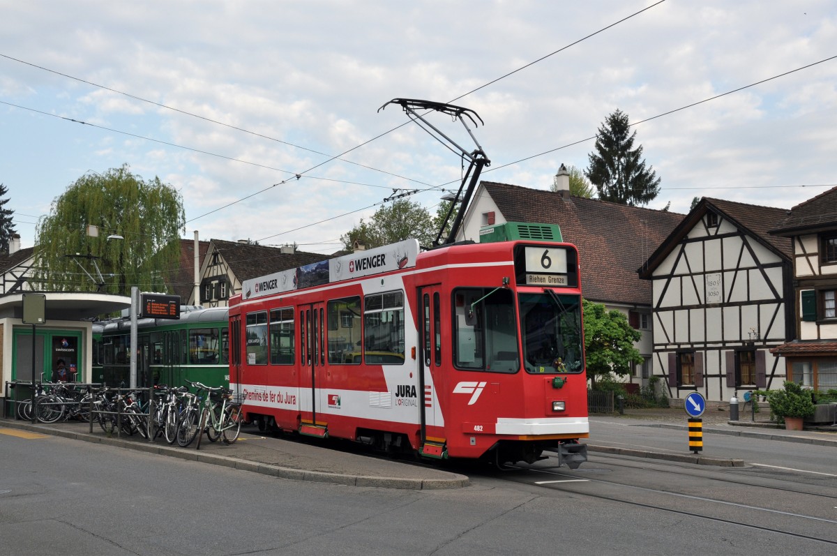
[[(509, 481), (475, 472), (463, 488), (399, 490), (290, 481), (111, 445), (3, 434), (0, 553), (834, 553), (833, 544), (614, 500), (609, 495), (624, 486), (585, 480), (603, 474), (593, 470), (613, 457), (593, 453), (586, 475), (562, 468), (548, 484), (536, 480), (545, 474)], [(639, 463), (639, 471), (607, 471), (631, 481), (650, 472), (660, 492), (630, 489), (636, 500), (666, 498), (663, 492), (683, 481)], [(769, 528), (783, 517), (761, 519)]]

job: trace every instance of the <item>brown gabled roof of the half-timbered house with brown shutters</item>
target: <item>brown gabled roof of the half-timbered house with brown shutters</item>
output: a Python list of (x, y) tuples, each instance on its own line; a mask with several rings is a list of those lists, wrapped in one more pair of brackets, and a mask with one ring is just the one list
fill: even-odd
[(646, 280), (650, 279), (657, 266), (665, 260), (665, 257), (671, 251), (680, 245), (680, 242), (696, 225), (700, 224), (703, 216), (710, 210), (720, 214), (722, 218), (729, 220), (739, 229), (747, 232), (747, 234), (768, 247), (768, 249), (773, 250), (777, 255), (783, 257), (783, 259), (788, 261), (791, 259), (793, 248), (790, 239), (768, 234), (768, 229), (771, 229), (787, 214), (788, 211), (786, 209), (760, 207), (755, 204), (736, 203), (734, 201), (704, 197), (700, 203), (697, 203), (694, 209), (691, 209), (689, 214), (686, 214), (686, 218), (672, 230), (670, 236), (660, 242), (653, 255), (649, 257), (648, 261), (639, 270), (639, 275)]

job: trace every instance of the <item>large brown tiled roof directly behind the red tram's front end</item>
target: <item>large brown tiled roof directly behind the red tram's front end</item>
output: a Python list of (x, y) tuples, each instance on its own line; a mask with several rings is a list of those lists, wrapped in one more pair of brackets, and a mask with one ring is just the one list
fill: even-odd
[(651, 284), (637, 269), (668, 237), (683, 214), (569, 197), (506, 183), (483, 187), (509, 222), (558, 224), (578, 247), (582, 292), (592, 301), (650, 305)]

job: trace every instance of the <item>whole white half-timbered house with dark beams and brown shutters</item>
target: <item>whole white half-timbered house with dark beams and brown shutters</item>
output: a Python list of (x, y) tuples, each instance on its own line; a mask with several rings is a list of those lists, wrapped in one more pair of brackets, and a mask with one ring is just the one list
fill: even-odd
[(638, 270), (653, 285), (654, 373), (672, 398), (782, 386), (784, 361), (768, 355), (793, 337), (791, 246), (768, 229), (786, 215), (703, 198)]

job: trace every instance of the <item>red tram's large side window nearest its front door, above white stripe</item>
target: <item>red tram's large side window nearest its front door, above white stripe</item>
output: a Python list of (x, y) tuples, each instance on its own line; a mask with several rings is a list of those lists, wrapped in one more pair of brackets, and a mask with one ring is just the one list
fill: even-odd
[(404, 363), (404, 294), (391, 291), (363, 299), (363, 361), (372, 365)]

